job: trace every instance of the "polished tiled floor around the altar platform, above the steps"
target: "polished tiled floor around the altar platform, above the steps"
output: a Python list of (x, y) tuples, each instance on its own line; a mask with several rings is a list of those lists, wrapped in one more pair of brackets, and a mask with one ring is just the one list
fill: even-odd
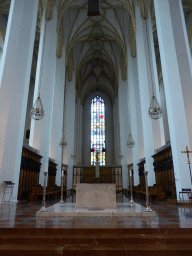
[[(117, 202), (127, 202), (123, 196)], [(72, 202), (72, 197), (64, 199)], [(49, 207), (59, 199), (47, 201)], [(144, 206), (144, 201), (136, 200)], [(1, 228), (192, 228), (192, 207), (152, 202), (156, 217), (36, 217), (41, 201), (0, 205)]]

